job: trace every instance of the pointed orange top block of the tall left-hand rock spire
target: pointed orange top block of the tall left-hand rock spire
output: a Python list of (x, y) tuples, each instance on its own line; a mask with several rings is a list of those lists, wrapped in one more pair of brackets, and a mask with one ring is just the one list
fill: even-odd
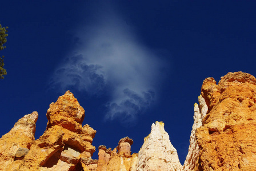
[(46, 116), (48, 119), (47, 129), (54, 125), (61, 125), (70, 131), (79, 132), (82, 129), (81, 124), (85, 117), (85, 110), (75, 99), (73, 93), (67, 91), (55, 103), (50, 104)]

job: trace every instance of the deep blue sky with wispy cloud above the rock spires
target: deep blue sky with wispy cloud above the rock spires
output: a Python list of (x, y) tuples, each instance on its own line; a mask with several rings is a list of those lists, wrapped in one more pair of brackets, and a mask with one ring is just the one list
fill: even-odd
[[(9, 26), (0, 80), (0, 135), (68, 89), (85, 108), (93, 145), (126, 136), (138, 152), (163, 121), (183, 164), (202, 82), (256, 75), (255, 1), (3, 1)], [(97, 152), (93, 158), (97, 158)]]

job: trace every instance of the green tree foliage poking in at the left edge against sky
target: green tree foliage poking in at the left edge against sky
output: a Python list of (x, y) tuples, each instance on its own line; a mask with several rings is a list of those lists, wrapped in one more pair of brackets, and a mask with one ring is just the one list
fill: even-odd
[[(8, 36), (8, 34), (6, 34), (7, 32), (7, 28), (8, 27), (2, 27), (2, 25), (0, 24), (0, 50), (3, 50), (4, 48), (6, 48), (6, 46), (3, 46), (3, 44), (6, 43), (6, 36)], [(3, 79), (3, 75), (6, 75), (6, 70), (5, 68), (3, 68), (3, 66), (5, 65), (5, 63), (3, 63), (3, 58), (4, 56), (0, 57), (0, 79)]]

